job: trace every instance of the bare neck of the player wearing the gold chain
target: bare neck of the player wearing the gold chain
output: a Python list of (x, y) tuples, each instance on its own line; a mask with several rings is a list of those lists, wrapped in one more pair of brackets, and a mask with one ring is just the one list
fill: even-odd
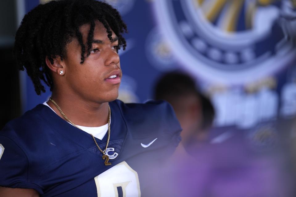
[[(93, 101), (85, 101), (81, 98), (77, 99), (74, 96), (68, 95), (65, 97), (64, 95), (55, 92), (52, 92), (51, 98), (60, 107), (67, 118), (69, 118), (69, 120), (75, 125), (97, 127), (108, 123), (108, 102), (97, 103)], [(47, 104), (65, 120), (60, 111), (51, 101), (47, 101)]]

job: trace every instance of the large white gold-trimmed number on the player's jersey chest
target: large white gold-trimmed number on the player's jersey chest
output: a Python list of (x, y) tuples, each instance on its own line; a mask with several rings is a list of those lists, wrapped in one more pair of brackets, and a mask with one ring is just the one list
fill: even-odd
[(98, 197), (140, 197), (138, 173), (125, 161), (95, 177)]

